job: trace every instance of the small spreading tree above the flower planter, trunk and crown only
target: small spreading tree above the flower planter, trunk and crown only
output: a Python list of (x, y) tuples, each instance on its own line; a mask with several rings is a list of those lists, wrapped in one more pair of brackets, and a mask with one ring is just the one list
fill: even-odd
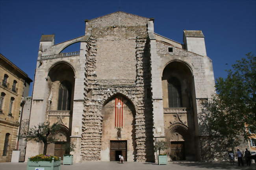
[(44, 122), (38, 126), (33, 126), (30, 128), (27, 134), (21, 135), (20, 137), (26, 138), (26, 141), (37, 141), (44, 143), (43, 154), (46, 155), (46, 150), (48, 143), (55, 143), (57, 138), (55, 137), (56, 133), (59, 131), (60, 125), (54, 123), (50, 126), (49, 122)]

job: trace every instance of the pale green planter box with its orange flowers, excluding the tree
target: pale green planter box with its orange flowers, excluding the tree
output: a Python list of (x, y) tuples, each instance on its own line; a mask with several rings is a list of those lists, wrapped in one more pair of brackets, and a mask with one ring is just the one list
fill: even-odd
[(27, 170), (60, 170), (60, 157), (39, 154), (28, 158)]

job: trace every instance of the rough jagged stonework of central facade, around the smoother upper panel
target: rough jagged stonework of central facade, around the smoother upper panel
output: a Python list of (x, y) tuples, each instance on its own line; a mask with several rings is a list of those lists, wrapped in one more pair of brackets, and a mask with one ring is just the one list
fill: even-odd
[[(99, 19), (98, 22), (102, 22), (102, 20), (104, 18)], [(91, 24), (95, 23), (95, 20), (91, 22)], [(122, 20), (119, 23), (122, 23)], [(101, 109), (110, 97), (121, 93), (132, 101), (136, 110), (135, 141), (137, 161), (153, 161), (154, 153), (151, 153), (153, 151), (152, 103), (150, 94), (145, 96), (145, 91), (150, 91), (150, 89), (148, 90), (150, 88), (150, 58), (148, 54), (147, 27), (146, 24), (139, 27), (113, 27), (109, 25), (111, 24), (104, 25), (104, 27), (101, 24), (91, 26), (93, 27), (91, 36), (87, 38), (87, 54), (85, 55), (85, 109), (81, 146), (83, 160), (100, 160), (102, 137)], [(97, 43), (102, 41), (102, 38), (117, 42), (123, 40), (135, 42), (133, 45), (135, 54), (132, 53), (133, 55), (130, 56), (135, 58), (134, 69), (136, 72), (134, 80), (126, 80), (125, 73), (124, 80), (121, 83), (118, 81), (113, 82), (112, 79), (98, 79), (101, 75), (98, 75), (100, 71), (97, 72), (97, 69), (100, 68), (97, 68), (97, 66), (102, 66), (102, 63), (99, 62), (100, 59), (97, 60), (97, 53), (100, 50), (98, 49), (100, 46)], [(121, 53), (122, 49), (117, 46), (112, 46), (111, 48), (119, 50)], [(125, 71), (125, 69), (123, 68), (122, 71)]]

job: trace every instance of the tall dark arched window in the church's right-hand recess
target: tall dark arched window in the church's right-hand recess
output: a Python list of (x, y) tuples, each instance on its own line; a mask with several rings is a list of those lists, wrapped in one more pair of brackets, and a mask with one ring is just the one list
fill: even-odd
[(176, 77), (168, 80), (169, 108), (182, 107), (182, 95), (180, 81)]

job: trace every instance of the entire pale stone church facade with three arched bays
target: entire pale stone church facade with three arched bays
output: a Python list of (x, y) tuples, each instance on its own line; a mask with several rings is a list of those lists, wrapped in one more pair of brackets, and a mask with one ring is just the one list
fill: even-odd
[[(154, 161), (166, 141), (171, 159), (200, 160), (207, 140), (200, 103), (215, 93), (202, 31), (184, 30), (184, 44), (154, 33), (154, 19), (124, 12), (85, 20), (85, 35), (54, 44), (42, 35), (29, 127), (59, 122), (59, 141), (74, 143), (74, 162)], [(61, 53), (80, 42), (80, 51)], [(27, 143), (26, 160), (43, 152)]]

